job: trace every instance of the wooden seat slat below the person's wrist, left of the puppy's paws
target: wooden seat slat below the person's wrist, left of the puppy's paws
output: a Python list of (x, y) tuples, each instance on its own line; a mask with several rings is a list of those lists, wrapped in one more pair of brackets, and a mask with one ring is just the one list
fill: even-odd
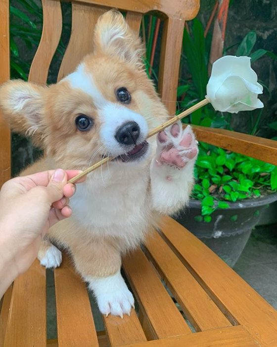
[(46, 347), (46, 270), (36, 259), (13, 284), (4, 347)]

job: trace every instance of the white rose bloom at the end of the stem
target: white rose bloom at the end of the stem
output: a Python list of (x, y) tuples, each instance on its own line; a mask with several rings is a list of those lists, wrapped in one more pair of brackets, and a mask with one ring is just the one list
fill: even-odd
[(213, 64), (206, 97), (221, 112), (260, 109), (264, 104), (258, 94), (263, 93), (263, 87), (257, 80), (249, 57), (225, 56)]

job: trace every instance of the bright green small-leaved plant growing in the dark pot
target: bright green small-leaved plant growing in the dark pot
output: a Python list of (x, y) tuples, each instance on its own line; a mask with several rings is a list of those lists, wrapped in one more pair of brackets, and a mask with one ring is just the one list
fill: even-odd
[(205, 143), (200, 146), (195, 178), (191, 196), (201, 201), (205, 222), (216, 209), (228, 208), (228, 202), (277, 190), (276, 166)]

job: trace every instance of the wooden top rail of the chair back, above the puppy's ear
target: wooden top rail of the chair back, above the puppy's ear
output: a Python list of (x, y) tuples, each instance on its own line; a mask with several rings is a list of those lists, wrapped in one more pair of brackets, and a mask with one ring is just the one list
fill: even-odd
[(193, 19), (200, 7), (200, 0), (75, 0), (75, 2), (86, 2), (99, 6), (118, 8), (126, 11), (147, 13), (158, 11), (170, 18), (190, 20)]

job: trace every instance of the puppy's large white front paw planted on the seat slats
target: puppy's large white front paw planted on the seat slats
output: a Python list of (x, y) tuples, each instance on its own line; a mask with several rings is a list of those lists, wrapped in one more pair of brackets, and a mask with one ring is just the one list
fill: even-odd
[(90, 289), (96, 297), (99, 310), (102, 314), (108, 316), (130, 315), (131, 308), (135, 307), (133, 294), (127, 288), (120, 271), (113, 276), (103, 278), (86, 278), (90, 282)]

